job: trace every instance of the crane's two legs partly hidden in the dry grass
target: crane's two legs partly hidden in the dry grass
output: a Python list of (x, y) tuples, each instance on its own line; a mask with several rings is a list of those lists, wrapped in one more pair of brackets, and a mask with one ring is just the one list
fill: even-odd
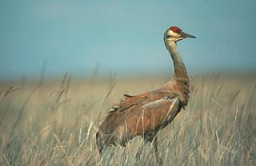
[(160, 158), (159, 153), (158, 153), (158, 136), (156, 136), (155, 134), (149, 134), (144, 137), (144, 144), (142, 144), (142, 146), (138, 149), (138, 152), (136, 153), (136, 159), (137, 160), (140, 159), (142, 150), (147, 142), (150, 142), (153, 145), (154, 154), (155, 154), (156, 160), (158, 162), (158, 165), (162, 166), (162, 159)]

